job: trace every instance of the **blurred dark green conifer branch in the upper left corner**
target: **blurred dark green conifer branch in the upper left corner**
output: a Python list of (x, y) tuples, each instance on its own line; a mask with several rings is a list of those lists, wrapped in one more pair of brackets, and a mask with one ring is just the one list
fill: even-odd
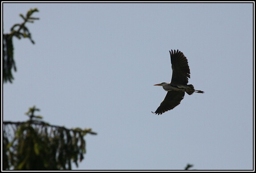
[(30, 9), (27, 12), (26, 16), (20, 14), (21, 18), (24, 20), (21, 24), (15, 24), (11, 28), (11, 32), (7, 34), (3, 34), (3, 49), (2, 49), (2, 75), (3, 82), (11, 82), (14, 79), (12, 75), (12, 69), (17, 71), (15, 66), (14, 56), (13, 56), (13, 44), (12, 38), (17, 37), (18, 39), (29, 38), (29, 40), (34, 44), (35, 42), (32, 40), (31, 33), (29, 29), (25, 26), (27, 22), (33, 23), (34, 20), (38, 20), (39, 18), (32, 17), (34, 12), (38, 12), (37, 8)]

